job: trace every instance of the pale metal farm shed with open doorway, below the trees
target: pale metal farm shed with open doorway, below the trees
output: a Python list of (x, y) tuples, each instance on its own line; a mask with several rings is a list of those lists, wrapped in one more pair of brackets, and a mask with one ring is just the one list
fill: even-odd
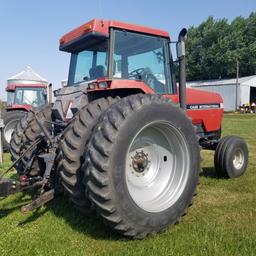
[(256, 102), (256, 75), (238, 79), (219, 79), (187, 82), (187, 86), (217, 92), (224, 101), (225, 111), (235, 111), (243, 104)]

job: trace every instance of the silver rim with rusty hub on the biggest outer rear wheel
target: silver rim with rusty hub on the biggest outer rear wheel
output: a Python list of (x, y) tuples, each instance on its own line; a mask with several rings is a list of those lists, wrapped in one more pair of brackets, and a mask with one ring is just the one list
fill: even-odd
[(148, 212), (170, 208), (188, 182), (190, 154), (171, 123), (152, 122), (134, 137), (126, 155), (126, 184), (133, 201)]

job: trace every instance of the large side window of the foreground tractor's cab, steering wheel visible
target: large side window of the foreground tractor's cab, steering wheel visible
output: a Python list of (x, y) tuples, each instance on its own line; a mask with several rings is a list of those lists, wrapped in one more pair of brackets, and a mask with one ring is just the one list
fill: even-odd
[(142, 80), (157, 93), (170, 93), (167, 39), (119, 30), (114, 33), (113, 78)]

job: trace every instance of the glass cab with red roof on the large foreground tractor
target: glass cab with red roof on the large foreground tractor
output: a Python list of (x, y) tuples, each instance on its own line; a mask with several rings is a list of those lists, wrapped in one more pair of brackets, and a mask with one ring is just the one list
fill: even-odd
[(169, 35), (160, 30), (93, 20), (60, 40), (60, 49), (71, 52), (68, 85), (133, 80), (155, 93), (173, 94), (176, 86), (169, 41)]

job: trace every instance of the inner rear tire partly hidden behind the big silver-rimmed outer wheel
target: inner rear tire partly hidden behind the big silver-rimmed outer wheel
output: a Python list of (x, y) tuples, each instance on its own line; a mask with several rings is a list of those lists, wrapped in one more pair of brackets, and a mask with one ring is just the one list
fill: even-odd
[(116, 101), (111, 97), (100, 98), (83, 107), (65, 129), (59, 144), (57, 173), (60, 173), (62, 185), (71, 201), (83, 212), (91, 210), (82, 183), (84, 175), (80, 170), (85, 160), (86, 145), (99, 116)]

